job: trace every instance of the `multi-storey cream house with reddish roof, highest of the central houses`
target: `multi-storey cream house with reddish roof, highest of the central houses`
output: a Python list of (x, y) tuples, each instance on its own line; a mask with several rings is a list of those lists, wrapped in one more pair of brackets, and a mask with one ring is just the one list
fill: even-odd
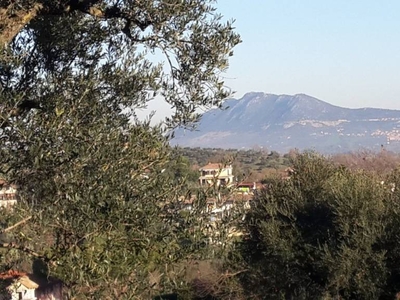
[(200, 168), (199, 181), (201, 185), (217, 185), (230, 187), (234, 184), (231, 165), (209, 163)]

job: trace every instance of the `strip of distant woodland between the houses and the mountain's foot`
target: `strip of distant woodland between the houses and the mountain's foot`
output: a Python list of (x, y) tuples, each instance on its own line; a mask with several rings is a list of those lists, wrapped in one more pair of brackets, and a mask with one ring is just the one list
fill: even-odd
[[(192, 182), (197, 181), (198, 169), (209, 162), (232, 164), (234, 175), (238, 180), (261, 182), (270, 177), (285, 175), (285, 170), (292, 165), (292, 161), (299, 151), (293, 149), (288, 153), (281, 154), (262, 148), (238, 150), (176, 147), (173, 149), (173, 153), (174, 159), (170, 164), (171, 173), (178, 176), (187, 173)], [(385, 149), (380, 152), (363, 150), (325, 157), (352, 170), (363, 169), (378, 173), (390, 172), (394, 166), (400, 164), (400, 155)], [(177, 172), (175, 172), (176, 168), (179, 169)]]

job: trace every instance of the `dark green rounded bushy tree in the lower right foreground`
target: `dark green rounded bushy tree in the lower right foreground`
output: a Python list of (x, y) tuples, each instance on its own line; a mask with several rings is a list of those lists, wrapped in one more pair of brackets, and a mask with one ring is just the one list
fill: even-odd
[[(393, 299), (400, 291), (400, 192), (376, 173), (313, 153), (248, 214), (242, 283), (264, 299)], [(400, 187), (394, 171), (388, 177)], [(387, 181), (386, 181), (387, 182)]]

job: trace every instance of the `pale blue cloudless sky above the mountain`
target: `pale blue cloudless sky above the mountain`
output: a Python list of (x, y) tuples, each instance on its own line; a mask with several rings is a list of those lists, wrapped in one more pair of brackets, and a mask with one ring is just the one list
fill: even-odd
[[(399, 0), (218, 0), (243, 42), (223, 74), (235, 98), (308, 94), (400, 109)], [(151, 104), (161, 117), (167, 111)]]

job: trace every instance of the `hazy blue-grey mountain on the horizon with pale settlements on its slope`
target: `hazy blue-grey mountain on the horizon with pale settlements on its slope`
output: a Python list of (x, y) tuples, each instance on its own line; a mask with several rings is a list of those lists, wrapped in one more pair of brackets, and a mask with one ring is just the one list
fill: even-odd
[(248, 93), (206, 112), (195, 131), (177, 129), (174, 145), (213, 148), (265, 147), (280, 152), (323, 153), (400, 150), (400, 111), (350, 109), (297, 94)]

